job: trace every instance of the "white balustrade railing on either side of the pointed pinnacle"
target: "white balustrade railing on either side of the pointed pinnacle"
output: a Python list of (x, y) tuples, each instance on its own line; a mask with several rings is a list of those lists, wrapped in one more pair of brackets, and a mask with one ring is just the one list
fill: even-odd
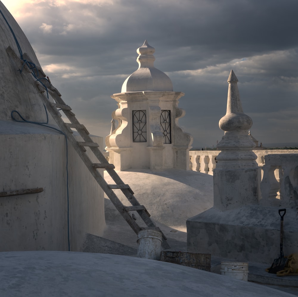
[[(220, 151), (190, 151), (190, 169), (213, 175)], [(254, 150), (260, 168), (260, 204), (298, 207), (298, 150)]]

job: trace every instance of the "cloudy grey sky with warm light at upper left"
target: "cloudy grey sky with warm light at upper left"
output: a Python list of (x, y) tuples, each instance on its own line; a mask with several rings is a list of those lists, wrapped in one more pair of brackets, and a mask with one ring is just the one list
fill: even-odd
[(110, 98), (138, 68), (147, 39), (155, 67), (182, 91), (179, 120), (193, 147), (224, 132), (227, 78), (238, 77), (252, 135), (298, 143), (297, 0), (2, 0), (77, 118), (93, 134), (111, 129)]

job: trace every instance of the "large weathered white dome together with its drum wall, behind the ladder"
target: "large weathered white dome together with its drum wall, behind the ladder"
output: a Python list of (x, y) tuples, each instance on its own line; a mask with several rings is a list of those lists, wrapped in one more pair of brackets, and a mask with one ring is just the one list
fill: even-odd
[[(24, 60), (30, 59), (40, 68), (29, 41), (1, 2), (0, 9), (18, 40)], [(45, 126), (11, 119), (11, 112), (17, 110), (27, 121), (46, 123), (46, 111), (41, 100), (43, 95), (28, 79), (31, 74), (25, 69), (20, 73), (7, 54), (6, 49), (10, 46), (21, 57), (3, 15), (0, 14), (1, 191), (36, 187), (44, 191), (1, 198), (0, 251), (68, 250), (68, 224), (70, 249), (79, 251), (86, 232), (96, 235), (103, 232), (103, 191), (69, 145), (68, 223), (64, 135)], [(53, 101), (51, 97), (49, 100)], [(21, 120), (16, 113), (13, 115)], [(48, 126), (53, 126), (54, 120), (48, 116)], [(94, 141), (103, 150), (102, 138), (94, 137)], [(93, 162), (96, 162), (94, 158)]]

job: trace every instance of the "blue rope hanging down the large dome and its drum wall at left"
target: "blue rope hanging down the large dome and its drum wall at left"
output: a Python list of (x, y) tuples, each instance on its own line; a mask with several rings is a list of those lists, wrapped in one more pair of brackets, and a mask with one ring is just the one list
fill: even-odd
[[(20, 54), (20, 57), (21, 57), (21, 60), (23, 61), (23, 65), (22, 65), (22, 68), (19, 70), (20, 74), (22, 73), (23, 69), (24, 69), (24, 66), (27, 65), (28, 68), (31, 70), (31, 74), (34, 76), (34, 78), (36, 79), (36, 81), (40, 82), (46, 89), (46, 96), (47, 98), (49, 99), (49, 93), (48, 93), (48, 88), (46, 87), (46, 85), (42, 82), (42, 80), (46, 80), (49, 85), (51, 85), (51, 82), (44, 78), (44, 77), (41, 77), (41, 78), (38, 78), (39, 76), (39, 72), (38, 72), (38, 69), (36, 67), (36, 65), (31, 62), (31, 61), (28, 61), (26, 59), (24, 59), (23, 57), (23, 52), (22, 52), (22, 49), (21, 49), (21, 46), (18, 42), (18, 39), (17, 37), (15, 36), (15, 33), (13, 32), (13, 29), (12, 27), (10, 26), (10, 24), (8, 23), (7, 19), (5, 18), (3, 12), (0, 10), (0, 13), (2, 15), (2, 17), (4, 18), (7, 26), (9, 27), (10, 29), (10, 32), (12, 33), (13, 35), (13, 38), (15, 40), (15, 43), (16, 43), (16, 46), (18, 47), (18, 51), (19, 51), (19, 54)], [(70, 251), (70, 235), (69, 235), (69, 174), (68, 174), (68, 142), (67, 142), (67, 137), (66, 137), (66, 134), (63, 133), (61, 130), (59, 129), (56, 129), (54, 127), (51, 127), (51, 126), (48, 126), (47, 124), (49, 123), (49, 116), (48, 116), (48, 112), (46, 110), (46, 106), (44, 105), (44, 110), (46, 112), (46, 122), (35, 122), (35, 121), (28, 121), (26, 120), (25, 118), (22, 117), (22, 115), (17, 111), (17, 110), (13, 110), (10, 114), (11, 118), (13, 119), (13, 121), (16, 121), (16, 122), (19, 122), (19, 123), (30, 123), (30, 124), (35, 124), (35, 125), (39, 125), (39, 126), (44, 126), (44, 127), (47, 127), (47, 128), (50, 128), (50, 129), (53, 129), (53, 130), (56, 130), (58, 131), (59, 133), (63, 134), (64, 137), (65, 137), (65, 140), (66, 140), (66, 188), (67, 188), (67, 240), (68, 240), (68, 251)], [(14, 113), (18, 114), (18, 116), (22, 119), (21, 121), (20, 120), (17, 120), (13, 115)]]

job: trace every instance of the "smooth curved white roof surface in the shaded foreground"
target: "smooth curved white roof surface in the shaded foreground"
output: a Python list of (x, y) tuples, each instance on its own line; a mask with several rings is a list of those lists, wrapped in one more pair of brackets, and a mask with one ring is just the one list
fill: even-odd
[(294, 296), (219, 274), (128, 256), (1, 252), (0, 296)]

